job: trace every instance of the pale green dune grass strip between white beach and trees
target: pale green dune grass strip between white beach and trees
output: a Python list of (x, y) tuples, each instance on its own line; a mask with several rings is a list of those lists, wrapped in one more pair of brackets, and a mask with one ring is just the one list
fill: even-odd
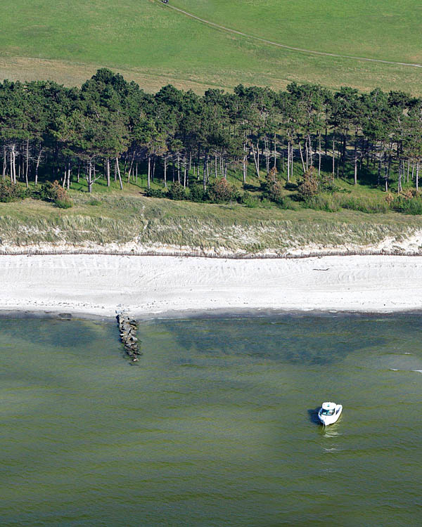
[(136, 243), (193, 249), (279, 253), (315, 248), (374, 245), (401, 240), (422, 228), (422, 218), (403, 214), (327, 213), (312, 209), (248, 209), (239, 204), (173, 202), (141, 195), (73, 193), (75, 206), (25, 200), (0, 204), (0, 250), (40, 243), (81, 247)]

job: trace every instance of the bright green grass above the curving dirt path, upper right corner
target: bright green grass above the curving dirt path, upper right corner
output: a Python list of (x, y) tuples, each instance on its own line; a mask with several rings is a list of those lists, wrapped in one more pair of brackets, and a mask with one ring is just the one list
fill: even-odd
[(416, 0), (172, 0), (226, 27), (309, 50), (422, 64)]

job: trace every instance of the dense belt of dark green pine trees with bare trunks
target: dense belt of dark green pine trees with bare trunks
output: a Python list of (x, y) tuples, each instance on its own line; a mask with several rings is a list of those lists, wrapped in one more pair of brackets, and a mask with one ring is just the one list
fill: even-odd
[[(146, 174), (167, 187), (236, 174), (276, 173), (288, 183), (293, 167), (315, 177), (365, 174), (372, 186), (418, 190), (422, 100), (403, 92), (290, 84), (286, 91), (239, 85), (203, 96), (165, 86), (155, 95), (110, 70), (78, 88), (54, 82), (0, 84), (3, 181), (63, 188), (85, 178), (137, 181)], [(1, 159), (1, 158), (0, 158)], [(368, 176), (370, 174), (370, 176)]]

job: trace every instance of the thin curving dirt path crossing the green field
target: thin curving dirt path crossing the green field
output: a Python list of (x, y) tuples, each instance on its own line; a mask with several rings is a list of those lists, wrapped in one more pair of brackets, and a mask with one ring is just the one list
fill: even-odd
[(173, 9), (174, 11), (179, 11), (179, 13), (182, 13), (190, 18), (194, 18), (195, 20), (198, 20), (199, 22), (202, 22), (203, 24), (209, 25), (211, 27), (216, 27), (218, 30), (229, 32), (231, 34), (237, 34), (237, 35), (240, 35), (241, 37), (246, 37), (248, 39), (258, 40), (260, 42), (264, 42), (264, 44), (271, 44), (271, 46), (278, 46), (279, 48), (288, 49), (290, 51), (300, 51), (300, 53), (312, 53), (313, 55), (322, 55), (326, 57), (350, 58), (352, 60), (366, 60), (371, 63), (392, 64), (396, 66), (422, 67), (422, 64), (397, 63), (392, 60), (383, 60), (381, 58), (355, 57), (352, 55), (340, 55), (339, 53), (328, 53), (326, 51), (316, 51), (314, 49), (296, 48), (295, 46), (288, 46), (287, 44), (280, 44), (279, 42), (274, 42), (272, 40), (262, 39), (261, 37), (255, 37), (255, 35), (252, 35), (252, 34), (243, 33), (238, 30), (233, 30), (231, 29), (231, 27), (225, 27), (224, 25), (216, 24), (215, 22), (211, 22), (210, 20), (205, 20), (204, 18), (200, 18), (196, 15), (193, 15), (193, 13), (184, 11), (183, 9), (172, 6), (171, 4), (163, 4), (161, 0), (157, 0), (156, 3), (161, 4), (163, 7)]

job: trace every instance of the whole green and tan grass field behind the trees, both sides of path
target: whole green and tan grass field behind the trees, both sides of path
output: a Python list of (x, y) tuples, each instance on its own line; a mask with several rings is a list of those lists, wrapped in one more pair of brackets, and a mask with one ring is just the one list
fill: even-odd
[(296, 81), (422, 95), (422, 68), (289, 51), (171, 6), (288, 46), (422, 64), (418, 0), (3, 0), (0, 77), (72, 85), (106, 66), (148, 91)]

